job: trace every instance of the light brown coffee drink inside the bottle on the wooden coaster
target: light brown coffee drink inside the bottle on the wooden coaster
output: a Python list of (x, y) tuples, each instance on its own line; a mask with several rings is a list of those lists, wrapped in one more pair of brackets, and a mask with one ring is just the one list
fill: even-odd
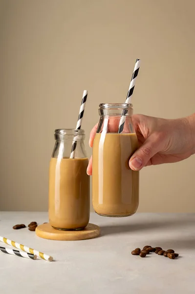
[(87, 226), (90, 211), (87, 158), (51, 158), (49, 166), (49, 222), (58, 229)]

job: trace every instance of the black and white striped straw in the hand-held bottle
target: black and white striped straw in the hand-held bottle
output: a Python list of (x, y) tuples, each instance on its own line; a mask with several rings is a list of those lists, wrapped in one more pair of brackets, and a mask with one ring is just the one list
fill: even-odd
[[(137, 78), (137, 75), (138, 75), (138, 72), (139, 72), (139, 67), (140, 67), (140, 59), (137, 59), (136, 63), (135, 63), (134, 70), (133, 70), (133, 74), (132, 74), (132, 77), (131, 77), (130, 87), (129, 87), (129, 91), (127, 93), (127, 98), (125, 100), (125, 103), (128, 103), (128, 104), (130, 103), (130, 99), (131, 99), (131, 96), (133, 94), (133, 90), (134, 90), (134, 87), (135, 87), (135, 81), (136, 81), (136, 78)], [(123, 131), (124, 124), (125, 124), (125, 116), (126, 116), (127, 112), (128, 112), (127, 109), (123, 110), (123, 113), (122, 113), (122, 116), (121, 116), (121, 119), (120, 119), (120, 122), (119, 122), (118, 133), (122, 133), (122, 131)]]

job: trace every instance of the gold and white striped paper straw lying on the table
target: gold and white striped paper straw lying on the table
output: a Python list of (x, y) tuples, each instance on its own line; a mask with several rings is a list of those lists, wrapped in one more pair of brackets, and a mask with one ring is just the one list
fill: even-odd
[(1, 236), (0, 236), (0, 242), (3, 242), (4, 244), (7, 244), (7, 245), (11, 245), (11, 246), (13, 246), (15, 248), (18, 248), (18, 249), (21, 249), (24, 252), (37, 255), (37, 256), (39, 256), (40, 258), (42, 258), (42, 259), (44, 259), (46, 261), (52, 261), (53, 260), (53, 257), (50, 256), (50, 255), (46, 255), (43, 252), (40, 252), (40, 251), (37, 251), (35, 249), (29, 248), (29, 247), (27, 247), (25, 245), (19, 244), (19, 243), (15, 242), (15, 241), (9, 240), (9, 239), (1, 237)]

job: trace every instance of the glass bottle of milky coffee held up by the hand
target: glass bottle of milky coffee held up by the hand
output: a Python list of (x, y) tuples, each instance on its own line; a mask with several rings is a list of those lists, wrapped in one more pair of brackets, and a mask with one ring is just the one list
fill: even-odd
[[(131, 122), (132, 104), (108, 103), (99, 107), (100, 121), (93, 143), (93, 208), (101, 216), (131, 216), (139, 204), (139, 172), (129, 167), (130, 156), (138, 148)], [(119, 133), (122, 115), (125, 123)]]

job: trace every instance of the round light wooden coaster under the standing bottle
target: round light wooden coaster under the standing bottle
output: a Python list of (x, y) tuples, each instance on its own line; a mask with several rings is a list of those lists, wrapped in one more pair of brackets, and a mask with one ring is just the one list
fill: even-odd
[(98, 225), (88, 223), (87, 227), (79, 231), (61, 231), (54, 229), (49, 223), (43, 223), (36, 227), (36, 234), (38, 237), (49, 240), (73, 241), (73, 240), (87, 240), (98, 237), (100, 235), (100, 228)]

